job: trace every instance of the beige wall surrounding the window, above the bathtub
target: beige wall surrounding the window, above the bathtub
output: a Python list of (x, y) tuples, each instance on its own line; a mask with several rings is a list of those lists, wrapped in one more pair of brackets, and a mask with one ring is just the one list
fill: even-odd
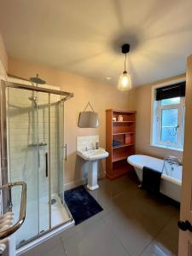
[(145, 84), (135, 90), (135, 106), (137, 110), (137, 129), (136, 129), (136, 151), (137, 154), (148, 154), (159, 158), (167, 155), (175, 155), (182, 159), (183, 153), (175, 150), (156, 148), (150, 146), (151, 128), (151, 87), (173, 79), (184, 78), (185, 74), (164, 79), (153, 84)]

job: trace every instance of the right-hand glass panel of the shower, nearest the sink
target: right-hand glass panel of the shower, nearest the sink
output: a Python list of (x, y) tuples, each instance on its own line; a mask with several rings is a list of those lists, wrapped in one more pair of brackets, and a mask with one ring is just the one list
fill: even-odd
[(70, 216), (64, 203), (64, 102), (60, 96), (50, 96), (51, 151), (51, 226), (67, 222)]

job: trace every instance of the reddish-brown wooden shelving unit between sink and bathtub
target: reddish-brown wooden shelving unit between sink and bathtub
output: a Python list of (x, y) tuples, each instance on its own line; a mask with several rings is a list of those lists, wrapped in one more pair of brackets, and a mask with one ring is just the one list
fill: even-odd
[[(113, 117), (123, 116), (123, 121), (113, 121)], [(120, 177), (131, 171), (127, 157), (135, 154), (136, 111), (106, 110), (106, 176), (110, 179)], [(113, 147), (113, 140), (120, 144)]]

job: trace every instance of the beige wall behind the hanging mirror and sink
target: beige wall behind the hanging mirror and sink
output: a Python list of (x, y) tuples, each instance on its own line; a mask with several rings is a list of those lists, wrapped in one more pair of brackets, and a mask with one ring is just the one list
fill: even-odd
[[(100, 144), (105, 148), (105, 110), (107, 108), (131, 109), (133, 97), (127, 92), (116, 90), (113, 85), (97, 83), (91, 79), (65, 73), (49, 67), (35, 65), (26, 61), (9, 59), (9, 73), (28, 79), (36, 73), (47, 84), (59, 85), (61, 90), (74, 93), (74, 97), (65, 104), (65, 141), (67, 143), (67, 166), (65, 183), (72, 183), (84, 177), (82, 160), (76, 156), (76, 137), (99, 134)], [(128, 99), (128, 101), (127, 101)], [(99, 113), (98, 129), (80, 129), (78, 127), (79, 112), (91, 102)], [(102, 161), (100, 171), (104, 172), (105, 161)]]

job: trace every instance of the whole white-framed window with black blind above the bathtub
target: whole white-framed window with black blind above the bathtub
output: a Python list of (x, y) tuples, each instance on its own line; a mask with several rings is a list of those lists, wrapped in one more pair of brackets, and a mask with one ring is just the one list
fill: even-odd
[(152, 145), (183, 149), (184, 95), (184, 82), (154, 88)]

